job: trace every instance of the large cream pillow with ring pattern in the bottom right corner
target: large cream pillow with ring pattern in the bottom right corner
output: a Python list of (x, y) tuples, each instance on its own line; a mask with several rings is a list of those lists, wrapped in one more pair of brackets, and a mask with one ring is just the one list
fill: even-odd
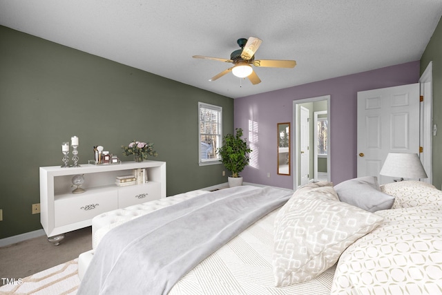
[(340, 256), (332, 294), (442, 294), (442, 212), (424, 205), (376, 214), (382, 225)]

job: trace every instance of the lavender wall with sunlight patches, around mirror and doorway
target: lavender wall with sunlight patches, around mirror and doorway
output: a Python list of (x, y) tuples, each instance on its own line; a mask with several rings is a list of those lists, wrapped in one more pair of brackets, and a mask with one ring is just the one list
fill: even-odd
[[(330, 95), (332, 182), (338, 184), (355, 178), (358, 91), (412, 84), (418, 81), (419, 61), (412, 61), (235, 99), (234, 126), (244, 130), (244, 137), (253, 149), (251, 163), (241, 173), (244, 182), (293, 189), (293, 161), (290, 176), (276, 173), (276, 124), (291, 122), (291, 131), (294, 131), (293, 101), (322, 95)], [(270, 178), (267, 178), (268, 172)]]

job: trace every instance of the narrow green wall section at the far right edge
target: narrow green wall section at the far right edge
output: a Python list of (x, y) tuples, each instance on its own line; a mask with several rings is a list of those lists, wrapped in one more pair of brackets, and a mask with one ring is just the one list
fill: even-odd
[(433, 136), (432, 166), (433, 184), (441, 189), (442, 185), (442, 21), (434, 33), (421, 57), (421, 75), (433, 61), (433, 124), (438, 127), (437, 135)]

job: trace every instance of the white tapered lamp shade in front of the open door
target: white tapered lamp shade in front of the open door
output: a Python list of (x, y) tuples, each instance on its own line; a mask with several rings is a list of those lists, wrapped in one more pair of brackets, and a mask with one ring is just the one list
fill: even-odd
[(416, 153), (388, 153), (379, 174), (400, 178), (428, 177)]

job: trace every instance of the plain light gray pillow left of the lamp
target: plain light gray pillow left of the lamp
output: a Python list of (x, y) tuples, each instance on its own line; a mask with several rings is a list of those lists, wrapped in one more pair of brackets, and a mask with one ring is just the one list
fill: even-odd
[(370, 212), (391, 209), (393, 206), (394, 197), (381, 191), (376, 176), (346, 180), (337, 184), (334, 189), (341, 202)]

